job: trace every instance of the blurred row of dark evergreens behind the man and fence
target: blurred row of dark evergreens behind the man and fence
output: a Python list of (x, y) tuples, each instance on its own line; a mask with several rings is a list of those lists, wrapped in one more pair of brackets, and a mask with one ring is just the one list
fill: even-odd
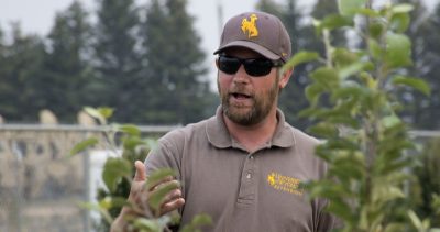
[[(255, 5), (279, 18), (292, 36), (293, 51), (319, 51), (312, 18), (337, 13), (336, 0), (318, 0), (308, 11), (294, 0), (260, 0)], [(414, 65), (407, 76), (419, 76), (431, 87), (430, 98), (400, 90), (407, 108), (400, 114), (414, 129), (439, 129), (440, 7), (415, 5), (408, 36)], [(91, 19), (96, 18), (95, 21)], [(117, 109), (114, 120), (136, 124), (186, 124), (215, 112), (217, 90), (210, 86), (200, 36), (186, 0), (100, 0), (97, 12), (79, 1), (58, 12), (47, 35), (26, 34), (20, 24), (0, 27), (0, 114), (7, 122), (33, 123), (38, 111), (52, 110), (62, 123), (74, 123), (84, 106)], [(7, 36), (8, 35), (8, 36)], [(349, 31), (338, 31), (333, 45), (360, 47)], [(304, 98), (315, 64), (295, 68), (280, 96), (287, 121), (310, 125), (296, 114), (308, 107)]]

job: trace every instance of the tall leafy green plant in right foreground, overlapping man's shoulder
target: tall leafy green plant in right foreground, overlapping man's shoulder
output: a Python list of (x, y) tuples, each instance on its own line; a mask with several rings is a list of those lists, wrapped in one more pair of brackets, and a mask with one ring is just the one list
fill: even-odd
[[(311, 198), (327, 198), (327, 210), (344, 223), (342, 231), (425, 231), (409, 207), (405, 185), (414, 179), (415, 147), (407, 124), (398, 117), (404, 107), (396, 89), (415, 88), (425, 95), (429, 86), (405, 76), (411, 65), (411, 42), (404, 34), (410, 4), (373, 9), (369, 0), (339, 0), (340, 14), (315, 20), (326, 54), (299, 52), (293, 67), (317, 60), (322, 65), (309, 76), (306, 89), (310, 107), (302, 111), (317, 123), (310, 132), (323, 139), (317, 155), (328, 165), (328, 177), (306, 185)], [(331, 33), (352, 29), (364, 48), (332, 46)], [(418, 221), (417, 221), (418, 220)]]

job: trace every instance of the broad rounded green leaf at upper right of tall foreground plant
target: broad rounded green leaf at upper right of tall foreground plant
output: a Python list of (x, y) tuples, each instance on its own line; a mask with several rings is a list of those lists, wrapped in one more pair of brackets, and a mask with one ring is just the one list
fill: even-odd
[(386, 35), (385, 63), (388, 68), (411, 65), (411, 42), (404, 34), (388, 33)]

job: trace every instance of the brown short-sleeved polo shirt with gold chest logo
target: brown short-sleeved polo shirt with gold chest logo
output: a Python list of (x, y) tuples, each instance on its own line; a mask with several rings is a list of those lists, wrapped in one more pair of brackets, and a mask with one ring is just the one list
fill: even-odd
[(211, 216), (204, 231), (328, 231), (333, 218), (324, 200), (308, 201), (300, 183), (323, 177), (326, 164), (314, 155), (318, 140), (285, 122), (272, 141), (253, 153), (229, 134), (221, 108), (208, 120), (172, 131), (145, 161), (146, 173), (177, 170), (185, 206), (182, 223), (197, 213)]

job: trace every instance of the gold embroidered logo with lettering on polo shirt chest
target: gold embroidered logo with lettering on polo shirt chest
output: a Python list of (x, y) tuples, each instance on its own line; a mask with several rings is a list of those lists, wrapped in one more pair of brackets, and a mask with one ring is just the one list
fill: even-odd
[(299, 179), (283, 176), (278, 173), (272, 172), (267, 175), (267, 183), (276, 190), (286, 191), (293, 195), (302, 196), (304, 190), (299, 188), (299, 184), (301, 183)]

